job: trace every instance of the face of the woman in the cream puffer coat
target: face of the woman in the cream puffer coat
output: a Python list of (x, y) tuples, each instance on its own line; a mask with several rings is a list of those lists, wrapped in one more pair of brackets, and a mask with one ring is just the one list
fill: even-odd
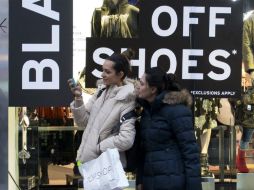
[(120, 73), (116, 73), (116, 71), (114, 70), (113, 66), (114, 66), (114, 62), (113, 61), (109, 61), (109, 60), (105, 60), (103, 66), (102, 66), (102, 79), (103, 79), (103, 83), (106, 86), (110, 86), (110, 85), (117, 85), (120, 86), (122, 83), (122, 72)]

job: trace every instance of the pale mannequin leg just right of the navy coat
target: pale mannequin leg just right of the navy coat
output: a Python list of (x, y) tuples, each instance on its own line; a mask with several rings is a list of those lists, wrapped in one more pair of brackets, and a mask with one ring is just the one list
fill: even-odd
[(200, 135), (200, 163), (201, 163), (201, 175), (202, 176), (212, 176), (212, 173), (209, 171), (208, 166), (208, 146), (211, 139), (211, 129), (207, 129), (203, 134)]

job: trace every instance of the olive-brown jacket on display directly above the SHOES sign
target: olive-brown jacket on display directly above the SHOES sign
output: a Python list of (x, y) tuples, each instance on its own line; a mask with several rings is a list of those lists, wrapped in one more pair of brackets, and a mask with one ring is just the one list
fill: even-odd
[(96, 8), (92, 17), (92, 37), (133, 38), (138, 37), (139, 9), (118, 0), (104, 0), (101, 8)]

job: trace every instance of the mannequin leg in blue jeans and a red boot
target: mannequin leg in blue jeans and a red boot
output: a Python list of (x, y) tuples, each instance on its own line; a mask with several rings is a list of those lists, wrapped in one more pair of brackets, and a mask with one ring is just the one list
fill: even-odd
[(248, 173), (249, 169), (246, 166), (245, 150), (249, 147), (254, 129), (243, 127), (243, 135), (240, 141), (240, 147), (238, 148), (238, 154), (236, 157), (236, 167), (241, 173)]

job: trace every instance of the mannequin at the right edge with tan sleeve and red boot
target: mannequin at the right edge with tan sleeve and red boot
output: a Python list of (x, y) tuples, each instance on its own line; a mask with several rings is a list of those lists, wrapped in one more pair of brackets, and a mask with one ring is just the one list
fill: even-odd
[(254, 96), (254, 11), (249, 11), (245, 15), (243, 24), (243, 63), (246, 73), (250, 75), (251, 83), (247, 90), (243, 92), (241, 102), (238, 104), (238, 119), (243, 127), (242, 138), (240, 140), (240, 146), (238, 147), (238, 154), (236, 159), (236, 166), (239, 172), (248, 173), (249, 169), (246, 165), (245, 152), (249, 148), (249, 143), (252, 139), (254, 131), (253, 125), (253, 96)]

